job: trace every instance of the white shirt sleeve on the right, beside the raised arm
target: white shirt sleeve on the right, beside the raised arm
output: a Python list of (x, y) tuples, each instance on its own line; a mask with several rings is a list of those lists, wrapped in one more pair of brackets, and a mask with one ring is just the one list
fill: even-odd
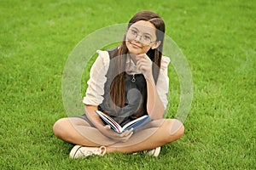
[(170, 59), (166, 56), (162, 57), (160, 74), (156, 83), (156, 91), (160, 96), (160, 100), (162, 101), (165, 109), (168, 105), (167, 94), (169, 92), (169, 77), (168, 77), (168, 65), (170, 63)]

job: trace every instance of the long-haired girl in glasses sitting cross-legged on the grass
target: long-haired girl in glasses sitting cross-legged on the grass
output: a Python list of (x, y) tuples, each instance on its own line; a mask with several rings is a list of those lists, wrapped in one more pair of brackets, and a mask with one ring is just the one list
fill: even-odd
[[(85, 114), (61, 118), (53, 127), (56, 137), (76, 144), (70, 157), (141, 150), (158, 156), (160, 146), (183, 135), (182, 122), (163, 118), (169, 82), (169, 58), (161, 53), (164, 33), (160, 16), (142, 11), (131, 18), (119, 47), (97, 52), (83, 101)], [(102, 122), (97, 110), (120, 125), (143, 115), (152, 121), (136, 130), (115, 133)]]

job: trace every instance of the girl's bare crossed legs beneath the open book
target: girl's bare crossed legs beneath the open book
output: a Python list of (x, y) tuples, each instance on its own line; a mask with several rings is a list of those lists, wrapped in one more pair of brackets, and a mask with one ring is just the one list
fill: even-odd
[(53, 130), (56, 137), (72, 144), (104, 145), (108, 153), (131, 153), (171, 143), (183, 135), (184, 127), (182, 122), (176, 119), (152, 121), (138, 129), (125, 143), (116, 143), (79, 117), (61, 118), (55, 122)]

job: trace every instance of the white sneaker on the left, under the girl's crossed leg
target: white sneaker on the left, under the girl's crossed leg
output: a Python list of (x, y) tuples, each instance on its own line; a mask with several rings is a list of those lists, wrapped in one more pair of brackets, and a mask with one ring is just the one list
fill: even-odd
[(87, 157), (87, 156), (104, 156), (106, 153), (106, 147), (86, 147), (81, 145), (75, 145), (73, 149), (70, 151), (70, 158), (79, 158), (79, 157)]

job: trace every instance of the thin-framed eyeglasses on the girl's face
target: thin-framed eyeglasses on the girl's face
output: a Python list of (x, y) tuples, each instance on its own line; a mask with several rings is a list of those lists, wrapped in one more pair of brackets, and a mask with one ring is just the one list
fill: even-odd
[(156, 41), (151, 41), (151, 37), (148, 36), (148, 34), (139, 35), (138, 31), (135, 29), (131, 29), (127, 31), (126, 37), (129, 40), (136, 40), (137, 37), (140, 37), (138, 38), (138, 41), (142, 42), (145, 45), (150, 45), (152, 42), (156, 42)]

